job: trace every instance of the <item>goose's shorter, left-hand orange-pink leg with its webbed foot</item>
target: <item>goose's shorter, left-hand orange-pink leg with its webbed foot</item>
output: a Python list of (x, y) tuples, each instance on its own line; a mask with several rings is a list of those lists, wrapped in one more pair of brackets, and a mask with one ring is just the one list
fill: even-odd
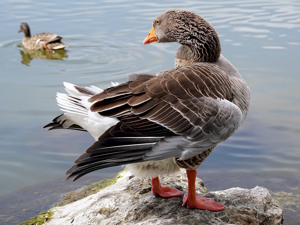
[(152, 186), (152, 194), (154, 196), (161, 196), (164, 198), (171, 198), (171, 197), (180, 197), (183, 196), (184, 193), (180, 190), (177, 190), (174, 187), (165, 187), (161, 185), (158, 177), (151, 179), (151, 186)]

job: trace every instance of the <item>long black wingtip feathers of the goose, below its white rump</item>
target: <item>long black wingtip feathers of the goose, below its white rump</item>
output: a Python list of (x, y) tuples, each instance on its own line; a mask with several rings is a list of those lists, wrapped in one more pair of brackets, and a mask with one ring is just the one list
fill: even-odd
[(159, 137), (139, 135), (119, 122), (75, 160), (75, 165), (66, 172), (69, 175), (67, 180), (75, 177), (75, 181), (87, 173), (107, 167), (143, 162), (147, 150), (159, 140)]

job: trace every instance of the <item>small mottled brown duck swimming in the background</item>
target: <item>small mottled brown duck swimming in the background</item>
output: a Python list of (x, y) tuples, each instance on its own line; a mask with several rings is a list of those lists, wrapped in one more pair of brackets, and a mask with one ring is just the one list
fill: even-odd
[(67, 47), (61, 42), (62, 37), (49, 32), (44, 32), (41, 34), (32, 35), (30, 34), (29, 25), (26, 22), (20, 24), (20, 29), (18, 33), (23, 32), (24, 38), (22, 40), (22, 45), (26, 49), (32, 50), (44, 50), (48, 52), (54, 52), (57, 49), (64, 49)]

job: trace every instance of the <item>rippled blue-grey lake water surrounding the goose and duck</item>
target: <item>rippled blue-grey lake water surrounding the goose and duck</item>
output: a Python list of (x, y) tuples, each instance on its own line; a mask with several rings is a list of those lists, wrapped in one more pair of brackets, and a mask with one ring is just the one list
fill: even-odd
[[(63, 182), (93, 138), (42, 127), (61, 113), (55, 93), (64, 91), (63, 81), (105, 88), (130, 73), (173, 68), (178, 44), (143, 46), (153, 18), (170, 8), (194, 11), (211, 22), (222, 54), (252, 94), (242, 127), (205, 160), (198, 176), (208, 190), (267, 187), (284, 210), (284, 224), (300, 224), (299, 1), (15, 0), (0, 1), (1, 225), (25, 220), (63, 193), (121, 170)], [(62, 36), (67, 51), (26, 52), (23, 34), (17, 33), (20, 22), (28, 22), (32, 34)]]

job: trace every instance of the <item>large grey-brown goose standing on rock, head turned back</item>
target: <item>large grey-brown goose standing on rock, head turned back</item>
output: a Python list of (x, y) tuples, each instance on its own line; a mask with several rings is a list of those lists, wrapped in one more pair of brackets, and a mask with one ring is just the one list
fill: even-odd
[[(56, 98), (64, 113), (44, 128), (88, 131), (95, 138), (67, 171), (67, 180), (126, 165), (135, 176), (151, 177), (154, 196), (183, 196), (182, 206), (189, 209), (224, 210), (214, 199), (196, 195), (196, 169), (241, 126), (250, 89), (221, 55), (214, 27), (196, 13), (159, 14), (143, 44), (152, 42), (180, 44), (175, 68), (131, 74), (104, 90), (64, 82), (68, 94)], [(187, 173), (186, 194), (159, 180), (181, 168)]]

